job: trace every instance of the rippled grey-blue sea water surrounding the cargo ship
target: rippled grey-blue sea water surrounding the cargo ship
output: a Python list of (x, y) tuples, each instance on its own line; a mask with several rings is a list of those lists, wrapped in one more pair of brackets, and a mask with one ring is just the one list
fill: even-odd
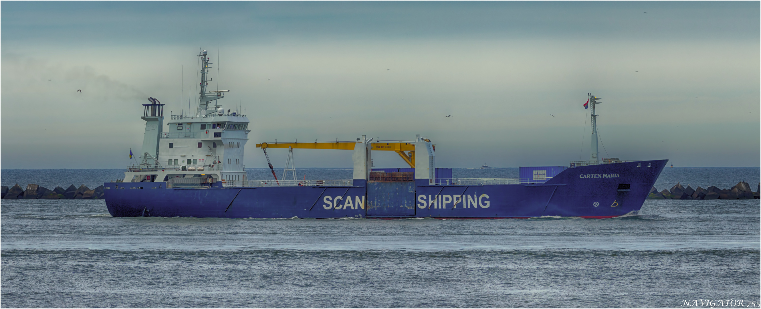
[[(0, 172), (3, 186), (48, 188), (123, 177)], [(250, 179), (267, 175), (249, 169)], [(667, 168), (656, 187), (740, 180), (756, 188), (759, 168)], [(0, 307), (686, 307), (761, 298), (759, 200), (648, 200), (625, 218), (494, 220), (112, 218), (103, 200), (0, 206)]]

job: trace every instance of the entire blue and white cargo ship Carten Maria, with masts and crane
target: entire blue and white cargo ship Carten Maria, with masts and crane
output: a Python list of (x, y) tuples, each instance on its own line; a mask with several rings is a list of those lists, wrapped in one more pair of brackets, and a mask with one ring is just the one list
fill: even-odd
[[(272, 179), (250, 180), (243, 164), (249, 120), (219, 104), (227, 90), (207, 91), (212, 62), (205, 50), (199, 58), (194, 114), (170, 115), (164, 132), (164, 104), (153, 98), (143, 104), (140, 160), (126, 167), (123, 180), (103, 183), (114, 217), (613, 218), (637, 214), (667, 164), (599, 158), (594, 106), (601, 102), (587, 94), (591, 158), (568, 166), (520, 167), (517, 178), (457, 178), (450, 168), (436, 167), (435, 145), (425, 136), (362, 135), (350, 141), (256, 144), (268, 162), (267, 148), (352, 151), (352, 179), (277, 179), (269, 164)], [(408, 167), (374, 169), (374, 151), (395, 151)]]

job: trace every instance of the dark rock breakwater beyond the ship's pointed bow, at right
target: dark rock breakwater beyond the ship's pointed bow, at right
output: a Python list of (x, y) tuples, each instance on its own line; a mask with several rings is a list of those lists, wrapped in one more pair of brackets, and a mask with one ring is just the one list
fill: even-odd
[(705, 189), (698, 186), (697, 189), (693, 189), (690, 185), (685, 188), (677, 183), (670, 190), (664, 189), (660, 192), (653, 186), (648, 199), (759, 199), (759, 190), (761, 190), (761, 183), (753, 192), (750, 185), (743, 181), (730, 189), (719, 189), (717, 186), (708, 186)]

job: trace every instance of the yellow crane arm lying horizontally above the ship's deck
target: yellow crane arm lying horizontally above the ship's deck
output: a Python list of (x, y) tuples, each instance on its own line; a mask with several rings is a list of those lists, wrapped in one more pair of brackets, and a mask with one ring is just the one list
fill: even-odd
[[(425, 139), (425, 142), (431, 142)], [(357, 142), (274, 142), (256, 144), (256, 148), (299, 148), (299, 149), (336, 149), (336, 150), (354, 150)], [(414, 142), (371, 142), (371, 150), (395, 151), (402, 159), (409, 164), (409, 167), (415, 167), (415, 143)], [(407, 151), (407, 152), (404, 152)]]

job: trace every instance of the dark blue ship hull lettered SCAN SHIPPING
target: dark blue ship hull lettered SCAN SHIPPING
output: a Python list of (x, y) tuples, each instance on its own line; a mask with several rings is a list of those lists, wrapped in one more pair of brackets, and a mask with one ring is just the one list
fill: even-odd
[[(103, 183), (114, 217), (199, 218), (613, 218), (636, 214), (667, 160), (572, 167), (542, 184), (166, 188)], [(628, 186), (627, 186), (628, 185)], [(135, 188), (135, 189), (132, 189)]]

